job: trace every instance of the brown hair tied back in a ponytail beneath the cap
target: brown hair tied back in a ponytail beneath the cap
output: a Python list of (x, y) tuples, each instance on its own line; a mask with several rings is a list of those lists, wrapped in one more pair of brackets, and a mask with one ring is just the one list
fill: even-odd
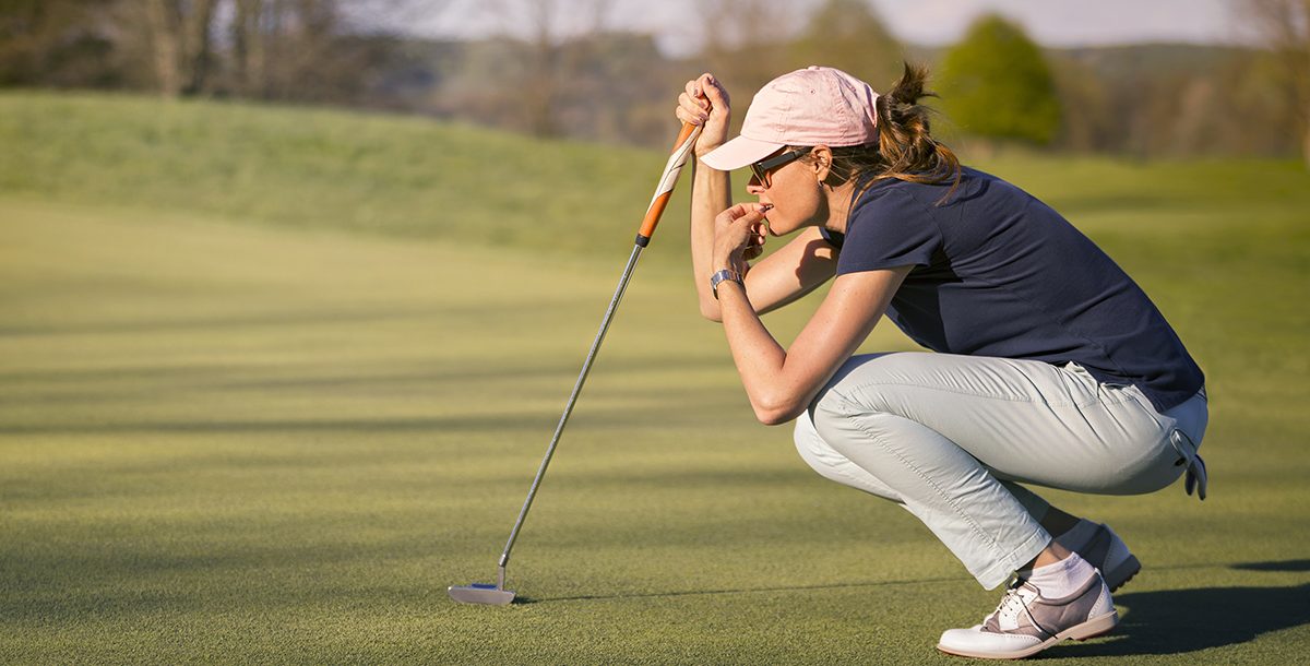
[(918, 101), (937, 94), (924, 90), (926, 81), (927, 67), (905, 63), (900, 80), (874, 104), (878, 144), (832, 148), (834, 177), (840, 182), (857, 178), (861, 184), (857, 197), (887, 178), (924, 184), (951, 181), (951, 189), (938, 205), (955, 193), (960, 184), (960, 160), (929, 132), (933, 110)]

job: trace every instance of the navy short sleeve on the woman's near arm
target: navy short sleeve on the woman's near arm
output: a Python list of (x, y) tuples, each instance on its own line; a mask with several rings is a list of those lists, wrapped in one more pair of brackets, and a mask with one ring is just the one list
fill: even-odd
[(930, 265), (942, 246), (931, 211), (896, 187), (870, 194), (846, 224), (837, 274)]

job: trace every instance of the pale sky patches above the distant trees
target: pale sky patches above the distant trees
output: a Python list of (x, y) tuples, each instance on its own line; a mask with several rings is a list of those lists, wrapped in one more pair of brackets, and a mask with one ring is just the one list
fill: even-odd
[[(506, 20), (520, 3), (554, 3), (565, 14), (588, 16), (608, 7), (605, 25), (659, 37), (673, 55), (696, 51), (703, 33), (694, 22), (697, 0), (448, 0), (438, 16), (415, 17), (410, 28), (443, 37), (478, 37), (523, 21)], [(817, 0), (778, 0), (787, 5)], [(960, 38), (979, 14), (998, 12), (1019, 22), (1044, 46), (1103, 46), (1137, 42), (1220, 43), (1239, 39), (1227, 26), (1234, 0), (871, 0), (892, 34), (905, 42), (942, 46)], [(580, 21), (578, 18), (576, 21)], [(569, 31), (567, 20), (559, 26)]]

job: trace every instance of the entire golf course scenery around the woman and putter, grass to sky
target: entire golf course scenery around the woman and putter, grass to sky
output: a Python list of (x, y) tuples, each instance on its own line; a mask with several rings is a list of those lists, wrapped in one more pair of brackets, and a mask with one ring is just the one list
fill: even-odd
[(445, 595), (493, 574), (683, 84), (713, 71), (740, 121), (793, 68), (886, 90), (909, 59), (933, 131), (1106, 249), (1207, 372), (1204, 506), (1048, 496), (1148, 566), (1121, 631), (1065, 654), (1302, 663), (1307, 18), (0, 0), (0, 662), (933, 663), (996, 597), (752, 418), (692, 296), (685, 176), (516, 545), (541, 603)]

